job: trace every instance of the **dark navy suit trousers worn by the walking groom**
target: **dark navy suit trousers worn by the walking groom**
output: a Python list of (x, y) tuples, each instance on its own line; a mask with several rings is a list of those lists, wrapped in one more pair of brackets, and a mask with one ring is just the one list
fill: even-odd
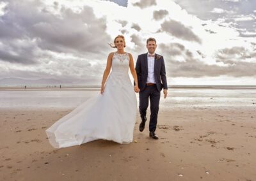
[(150, 100), (150, 121), (149, 131), (156, 131), (157, 115), (159, 111), (159, 101), (161, 92), (157, 91), (156, 85), (146, 86), (143, 91), (140, 91), (140, 116), (141, 119), (147, 115), (148, 99)]

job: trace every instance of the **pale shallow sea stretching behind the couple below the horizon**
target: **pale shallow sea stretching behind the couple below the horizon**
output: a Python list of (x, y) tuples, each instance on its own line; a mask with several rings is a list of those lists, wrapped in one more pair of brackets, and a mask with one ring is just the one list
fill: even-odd
[[(0, 109), (74, 109), (97, 94), (100, 94), (97, 85), (1, 85)], [(168, 87), (166, 99), (161, 92), (160, 106), (162, 110), (212, 106), (252, 108), (256, 107), (256, 85), (173, 85)]]

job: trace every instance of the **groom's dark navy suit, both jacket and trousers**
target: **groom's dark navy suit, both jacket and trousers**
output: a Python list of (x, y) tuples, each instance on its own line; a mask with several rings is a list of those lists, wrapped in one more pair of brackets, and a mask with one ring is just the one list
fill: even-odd
[(136, 62), (136, 73), (138, 76), (138, 87), (140, 88), (140, 116), (143, 119), (147, 114), (148, 98), (150, 99), (150, 122), (149, 131), (156, 131), (157, 114), (159, 110), (159, 101), (161, 90), (168, 89), (164, 58), (155, 54), (154, 60), (154, 78), (156, 85), (147, 86), (148, 79), (148, 54), (138, 56)]

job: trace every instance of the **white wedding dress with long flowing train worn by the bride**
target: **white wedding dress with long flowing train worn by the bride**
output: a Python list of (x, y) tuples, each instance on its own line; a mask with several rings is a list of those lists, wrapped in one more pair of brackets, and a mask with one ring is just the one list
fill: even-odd
[(103, 95), (88, 99), (49, 127), (51, 145), (70, 147), (98, 139), (130, 143), (137, 101), (128, 72), (129, 55), (114, 53)]

